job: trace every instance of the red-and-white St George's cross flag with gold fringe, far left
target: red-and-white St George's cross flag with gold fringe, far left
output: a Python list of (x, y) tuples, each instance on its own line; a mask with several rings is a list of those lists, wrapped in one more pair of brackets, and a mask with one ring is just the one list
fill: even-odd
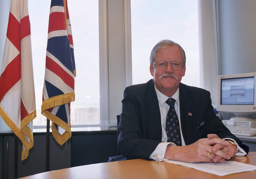
[(27, 0), (12, 0), (0, 76), (0, 115), (23, 143), (21, 160), (33, 147), (35, 87)]

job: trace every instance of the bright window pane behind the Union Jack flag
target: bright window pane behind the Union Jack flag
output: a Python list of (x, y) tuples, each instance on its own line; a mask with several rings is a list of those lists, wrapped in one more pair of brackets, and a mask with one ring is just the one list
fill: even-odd
[[(28, 4), (37, 110), (34, 127), (46, 125), (46, 118), (41, 115), (41, 105), (50, 4), (50, 0), (29, 1)], [(77, 74), (75, 102), (71, 103), (71, 126), (100, 124), (99, 2), (68, 1), (68, 10)]]

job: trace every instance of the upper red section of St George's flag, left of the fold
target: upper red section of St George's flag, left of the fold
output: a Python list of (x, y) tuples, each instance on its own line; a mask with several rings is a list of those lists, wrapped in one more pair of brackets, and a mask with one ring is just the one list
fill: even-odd
[(7, 27), (7, 38), (20, 51), (20, 23), (10, 12), (9, 22)]

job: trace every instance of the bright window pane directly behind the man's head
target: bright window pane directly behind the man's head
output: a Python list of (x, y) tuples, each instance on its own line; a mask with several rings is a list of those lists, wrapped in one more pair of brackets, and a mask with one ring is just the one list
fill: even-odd
[(198, 2), (196, 0), (131, 0), (132, 83), (152, 78), (149, 57), (157, 42), (169, 39), (185, 50), (182, 83), (199, 87)]

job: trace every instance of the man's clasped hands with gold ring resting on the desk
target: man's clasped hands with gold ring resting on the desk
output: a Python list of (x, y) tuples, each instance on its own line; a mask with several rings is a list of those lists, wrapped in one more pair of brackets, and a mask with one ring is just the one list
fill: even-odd
[(164, 158), (177, 161), (224, 163), (235, 157), (237, 147), (216, 134), (208, 134), (207, 138), (199, 139), (187, 146), (168, 145)]

